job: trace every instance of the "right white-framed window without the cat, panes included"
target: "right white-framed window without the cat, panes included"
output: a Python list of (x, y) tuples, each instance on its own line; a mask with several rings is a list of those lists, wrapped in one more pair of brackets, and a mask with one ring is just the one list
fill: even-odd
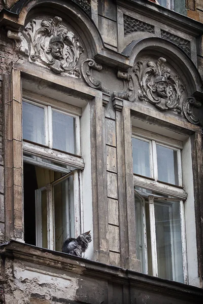
[(133, 128), (137, 256), (142, 272), (187, 283), (179, 140)]

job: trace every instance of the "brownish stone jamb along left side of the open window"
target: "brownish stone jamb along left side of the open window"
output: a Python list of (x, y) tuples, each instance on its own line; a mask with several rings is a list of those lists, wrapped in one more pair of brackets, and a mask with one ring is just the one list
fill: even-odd
[(23, 242), (22, 93), (20, 71), (4, 79), (5, 105), (5, 236)]

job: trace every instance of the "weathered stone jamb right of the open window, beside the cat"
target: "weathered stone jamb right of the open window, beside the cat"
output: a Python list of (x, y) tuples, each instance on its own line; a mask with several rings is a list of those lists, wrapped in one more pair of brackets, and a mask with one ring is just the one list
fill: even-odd
[(109, 263), (105, 116), (102, 93), (90, 103), (94, 259)]

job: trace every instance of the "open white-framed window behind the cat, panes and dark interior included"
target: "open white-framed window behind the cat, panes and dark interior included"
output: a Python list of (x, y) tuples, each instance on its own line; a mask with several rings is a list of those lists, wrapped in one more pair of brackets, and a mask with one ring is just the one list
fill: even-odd
[(61, 251), (80, 233), (80, 117), (65, 103), (22, 107), (25, 242)]

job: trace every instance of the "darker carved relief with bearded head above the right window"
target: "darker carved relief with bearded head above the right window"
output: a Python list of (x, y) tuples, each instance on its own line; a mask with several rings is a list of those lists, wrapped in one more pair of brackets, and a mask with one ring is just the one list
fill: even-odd
[(139, 61), (134, 66), (133, 72), (140, 87), (138, 98), (154, 104), (162, 111), (181, 113), (180, 97), (184, 87), (180, 84), (179, 77), (165, 66), (165, 62), (166, 59), (160, 57), (155, 63)]

